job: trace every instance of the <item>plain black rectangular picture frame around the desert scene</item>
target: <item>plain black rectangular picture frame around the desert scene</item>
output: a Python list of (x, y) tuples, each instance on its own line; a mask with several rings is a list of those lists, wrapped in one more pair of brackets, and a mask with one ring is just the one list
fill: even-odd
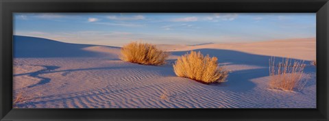
[[(328, 120), (328, 0), (1, 0), (0, 120)], [(12, 109), (14, 12), (314, 12), (317, 109)]]

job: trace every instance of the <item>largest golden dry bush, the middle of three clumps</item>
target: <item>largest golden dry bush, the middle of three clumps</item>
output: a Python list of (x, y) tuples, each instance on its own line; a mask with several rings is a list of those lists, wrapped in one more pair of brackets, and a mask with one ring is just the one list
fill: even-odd
[(179, 57), (173, 65), (178, 77), (186, 77), (203, 83), (223, 82), (228, 77), (228, 71), (218, 66), (217, 57), (202, 55), (191, 51)]

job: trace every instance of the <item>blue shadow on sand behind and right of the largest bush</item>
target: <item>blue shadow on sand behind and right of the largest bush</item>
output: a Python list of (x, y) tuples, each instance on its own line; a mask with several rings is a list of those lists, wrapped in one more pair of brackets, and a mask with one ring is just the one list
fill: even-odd
[[(269, 76), (269, 59), (271, 56), (267, 55), (254, 55), (251, 53), (243, 53), (241, 51), (230, 51), (224, 49), (195, 49), (193, 51), (200, 51), (203, 55), (210, 55), (210, 57), (217, 57), (219, 64), (230, 65), (245, 65), (256, 66), (258, 68), (247, 70), (236, 70), (230, 72), (228, 76), (228, 82), (223, 83), (225, 86), (239, 88), (243, 85), (241, 91), (250, 90), (256, 85), (252, 83), (252, 79)], [(190, 53), (190, 51), (177, 51), (171, 52), (172, 55), (184, 55)], [(275, 62), (282, 62), (283, 57), (275, 57)], [(175, 59), (169, 60), (169, 63), (173, 64)], [(291, 59), (292, 62), (303, 61), (301, 59)], [(310, 61), (304, 61), (304, 64), (310, 64)], [(305, 72), (315, 72), (314, 66), (307, 66)], [(219, 85), (220, 86), (220, 85)], [(225, 87), (224, 86), (224, 87)]]

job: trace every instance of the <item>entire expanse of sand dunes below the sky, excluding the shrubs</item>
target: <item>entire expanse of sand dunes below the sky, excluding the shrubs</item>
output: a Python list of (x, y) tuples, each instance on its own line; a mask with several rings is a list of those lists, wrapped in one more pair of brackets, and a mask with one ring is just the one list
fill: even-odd
[[(315, 46), (310, 46), (315, 40), (302, 39), (280, 46), (289, 42), (293, 40), (195, 46), (162, 44), (158, 46), (171, 51), (168, 64), (143, 66), (121, 61), (120, 48), (114, 46), (14, 36), (14, 92), (23, 92), (25, 96), (25, 102), (16, 106), (315, 108), (315, 66), (306, 67), (305, 73), (312, 79), (301, 92), (268, 89), (269, 57), (282, 59), (289, 55), (295, 60), (304, 59), (306, 64), (315, 59)], [(290, 49), (298, 51), (282, 53)], [(231, 71), (228, 82), (205, 85), (176, 77), (172, 68), (175, 58), (190, 50), (218, 57), (219, 64)]]

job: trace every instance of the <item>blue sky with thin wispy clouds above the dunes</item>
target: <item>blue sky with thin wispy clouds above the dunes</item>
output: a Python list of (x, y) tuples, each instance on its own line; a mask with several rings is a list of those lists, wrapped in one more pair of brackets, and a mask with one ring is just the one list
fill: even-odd
[(14, 34), (122, 46), (315, 38), (315, 13), (16, 13)]

